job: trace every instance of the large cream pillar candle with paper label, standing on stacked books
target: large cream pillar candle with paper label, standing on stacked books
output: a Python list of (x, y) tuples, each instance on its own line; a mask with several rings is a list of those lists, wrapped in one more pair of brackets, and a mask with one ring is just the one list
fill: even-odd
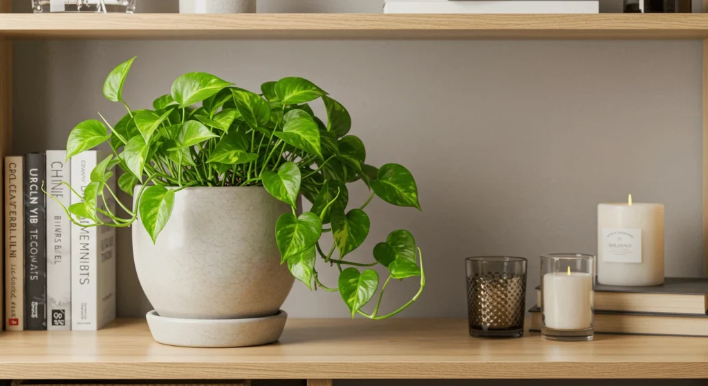
[(598, 283), (658, 286), (664, 281), (664, 207), (598, 205)]

